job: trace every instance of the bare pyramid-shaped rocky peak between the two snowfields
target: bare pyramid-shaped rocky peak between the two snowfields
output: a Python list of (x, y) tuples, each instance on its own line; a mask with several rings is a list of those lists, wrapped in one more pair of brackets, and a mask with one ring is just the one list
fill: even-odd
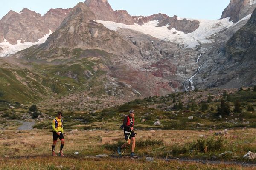
[[(115, 31), (108, 30), (97, 23), (94, 13), (85, 3), (78, 3), (61, 23), (61, 26), (51, 34), (46, 42), (40, 45), (40, 51), (32, 50), (37, 59), (67, 59), (71, 57), (64, 51), (73, 49), (104, 49), (117, 55), (140, 56), (139, 51), (132, 51), (131, 42), (123, 40)], [(38, 48), (37, 48), (38, 49)]]

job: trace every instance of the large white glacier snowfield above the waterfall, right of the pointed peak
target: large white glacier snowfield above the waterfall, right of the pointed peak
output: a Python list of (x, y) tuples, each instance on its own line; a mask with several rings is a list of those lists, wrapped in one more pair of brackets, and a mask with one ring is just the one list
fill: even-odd
[(233, 25), (233, 22), (228, 18), (222, 20), (198, 20), (200, 22), (198, 29), (192, 33), (185, 34), (184, 32), (177, 31), (175, 28), (171, 30), (167, 29), (169, 25), (163, 27), (157, 27), (159, 21), (150, 21), (140, 26), (138, 24), (125, 25), (123, 23), (115, 23), (112, 21), (100, 21), (106, 28), (112, 31), (118, 31), (118, 29), (131, 29), (142, 32), (143, 34), (149, 34), (152, 37), (160, 40), (175, 42), (184, 48), (195, 48), (196, 46), (204, 43), (211, 43), (211, 35), (216, 34), (224, 29)]

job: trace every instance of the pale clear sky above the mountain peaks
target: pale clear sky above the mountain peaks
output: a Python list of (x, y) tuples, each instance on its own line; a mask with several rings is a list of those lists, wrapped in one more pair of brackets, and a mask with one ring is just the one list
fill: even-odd
[[(51, 8), (73, 8), (81, 0), (3, 0), (0, 18), (11, 9), (20, 12), (23, 8), (44, 15)], [(81, 2), (84, 2), (83, 0)], [(152, 14), (177, 15), (183, 18), (217, 20), (230, 0), (108, 0), (113, 10), (126, 10), (133, 16)]]

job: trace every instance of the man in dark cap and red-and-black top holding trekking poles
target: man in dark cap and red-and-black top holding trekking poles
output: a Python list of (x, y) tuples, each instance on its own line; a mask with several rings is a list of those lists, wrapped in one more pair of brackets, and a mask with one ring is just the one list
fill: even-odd
[(117, 148), (117, 153), (119, 156), (122, 156), (121, 150), (124, 149), (127, 144), (130, 145), (131, 143), (131, 154), (130, 156), (133, 157), (135, 156), (134, 154), (134, 149), (135, 149), (135, 135), (134, 133), (134, 115), (135, 111), (130, 110), (129, 115), (125, 116), (124, 122), (123, 122), (123, 130), (124, 130), (124, 135), (125, 135), (125, 140), (127, 140), (126, 143), (124, 143), (121, 147)]

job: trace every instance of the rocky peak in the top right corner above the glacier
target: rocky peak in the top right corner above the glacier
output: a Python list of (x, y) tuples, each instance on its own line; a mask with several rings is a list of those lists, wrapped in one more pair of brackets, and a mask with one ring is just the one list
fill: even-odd
[(254, 8), (256, 8), (256, 0), (230, 0), (227, 8), (222, 12), (221, 19), (230, 17), (230, 21), (236, 23), (251, 14)]

